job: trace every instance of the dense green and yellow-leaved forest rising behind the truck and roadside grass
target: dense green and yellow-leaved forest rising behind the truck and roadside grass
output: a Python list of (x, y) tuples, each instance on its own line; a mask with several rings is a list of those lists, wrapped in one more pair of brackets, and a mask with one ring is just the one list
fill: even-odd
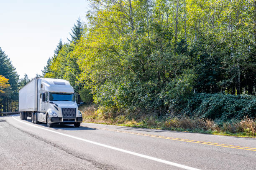
[(255, 0), (90, 6), (87, 21), (79, 18), (71, 39), (59, 41), (42, 76), (69, 80), (100, 117), (256, 117)]

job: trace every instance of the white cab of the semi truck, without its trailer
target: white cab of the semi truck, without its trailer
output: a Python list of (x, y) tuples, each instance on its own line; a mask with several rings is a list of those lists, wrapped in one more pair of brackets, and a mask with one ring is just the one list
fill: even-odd
[[(74, 89), (67, 80), (38, 79), (38, 122), (74, 124), (79, 127), (82, 114), (78, 110)], [(34, 121), (35, 121), (34, 120)]]

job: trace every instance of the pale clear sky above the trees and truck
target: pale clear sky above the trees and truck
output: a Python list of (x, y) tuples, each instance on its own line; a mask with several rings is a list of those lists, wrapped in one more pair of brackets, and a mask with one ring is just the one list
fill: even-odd
[(88, 10), (86, 0), (0, 0), (0, 47), (20, 78), (41, 75), (59, 40), (70, 39)]

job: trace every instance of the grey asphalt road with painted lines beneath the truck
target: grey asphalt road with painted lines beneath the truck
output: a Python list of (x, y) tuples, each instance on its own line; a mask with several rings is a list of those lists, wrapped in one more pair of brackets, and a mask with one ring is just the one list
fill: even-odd
[(0, 170), (256, 170), (256, 139), (0, 117)]

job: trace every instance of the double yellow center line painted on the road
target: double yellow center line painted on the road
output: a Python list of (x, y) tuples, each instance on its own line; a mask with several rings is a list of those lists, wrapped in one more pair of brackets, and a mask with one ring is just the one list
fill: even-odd
[(136, 133), (136, 132), (128, 132), (128, 131), (122, 131), (122, 130), (112, 130), (112, 129), (105, 129), (105, 128), (95, 128), (90, 126), (84, 126), (87, 128), (94, 128), (94, 129), (100, 129), (100, 130), (108, 130), (108, 131), (114, 131), (114, 132), (120, 132), (120, 133), (129, 133), (134, 135), (141, 135), (141, 136), (148, 136), (148, 137), (154, 137), (154, 138), (162, 138), (162, 139), (169, 139), (169, 140), (178, 140), (183, 142), (190, 142), (190, 143), (200, 143), (204, 145), (213, 145), (213, 146), (220, 146), (220, 147), (226, 147), (226, 148), (234, 148), (234, 149), (242, 149), (242, 150), (252, 150), (256, 151), (256, 148), (248, 148), (243, 146), (236, 146), (236, 145), (225, 145), (220, 143), (211, 143), (211, 142), (204, 142), (204, 141), (198, 141), (198, 140), (189, 140), (189, 139), (182, 139), (182, 138), (172, 138), (172, 137), (166, 137), (166, 136), (159, 136), (159, 135), (150, 135), (145, 133)]

